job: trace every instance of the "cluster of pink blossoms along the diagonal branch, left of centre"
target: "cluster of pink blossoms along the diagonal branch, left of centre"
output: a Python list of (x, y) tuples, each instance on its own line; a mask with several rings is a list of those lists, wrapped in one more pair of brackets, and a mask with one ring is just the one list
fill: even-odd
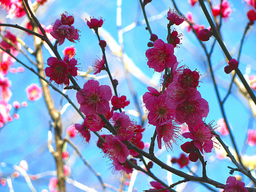
[[(103, 140), (99, 139), (97, 145), (102, 148), (105, 157), (109, 157), (113, 161), (115, 170), (131, 173), (132, 168), (126, 163), (127, 157), (130, 154), (136, 158), (139, 153), (128, 149), (127, 145), (128, 142), (131, 142), (143, 149), (144, 143), (141, 139), (145, 129), (133, 122), (125, 112), (113, 113), (114, 110), (124, 108), (130, 103), (126, 101), (126, 96), (112, 97), (112, 91), (108, 85), (99, 85), (98, 81), (91, 79), (84, 84), (83, 89), (77, 92), (76, 98), (85, 119), (82, 125), (75, 124), (75, 128), (89, 141), (89, 131), (100, 131), (106, 125), (99, 114), (105, 116), (107, 120), (112, 122), (117, 134), (102, 135)], [(110, 100), (113, 105), (112, 109), (109, 105)], [(136, 160), (131, 161), (136, 164)]]

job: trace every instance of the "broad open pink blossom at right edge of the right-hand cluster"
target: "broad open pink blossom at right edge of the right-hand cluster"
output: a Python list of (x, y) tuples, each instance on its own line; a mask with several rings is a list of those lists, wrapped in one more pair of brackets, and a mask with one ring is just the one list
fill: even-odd
[(186, 122), (189, 126), (194, 126), (202, 121), (209, 113), (208, 102), (201, 98), (201, 94), (197, 91), (195, 99), (186, 100), (177, 105), (175, 110), (175, 118), (178, 122)]

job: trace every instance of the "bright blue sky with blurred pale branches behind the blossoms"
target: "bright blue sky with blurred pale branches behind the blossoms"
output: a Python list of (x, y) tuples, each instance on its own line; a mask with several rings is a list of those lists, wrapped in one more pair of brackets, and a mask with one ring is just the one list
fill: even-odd
[[(248, 23), (247, 11), (251, 9), (245, 1), (228, 1), (232, 12), (229, 17), (222, 21), (221, 34), (227, 49), (233, 55), (233, 58), (237, 58), (239, 50), (239, 42), (241, 41), (244, 29)], [(32, 2), (33, 3), (33, 2)], [(201, 10), (199, 3), (195, 6), (191, 6), (187, 0), (176, 1), (180, 12), (185, 16), (187, 12), (191, 12), (193, 20), (199, 25), (204, 25), (205, 28), (209, 26), (207, 19), (204, 17), (204, 13)], [(220, 3), (219, 0), (212, 0), (212, 5), (216, 6)], [(174, 9), (172, 1), (170, 0), (152, 0), (145, 6), (146, 14), (151, 26), (151, 30), (158, 38), (166, 42), (167, 37), (167, 24), (169, 20), (166, 19), (169, 8)], [(208, 7), (209, 8), (209, 7)], [(145, 21), (143, 13), (138, 0), (129, 1), (109, 1), (109, 0), (47, 0), (43, 6), (40, 6), (36, 12), (38, 20), (45, 26), (49, 26), (55, 22), (56, 19), (61, 17), (61, 14), (68, 12), (75, 18), (73, 26), (79, 29), (80, 41), (73, 44), (70, 41), (65, 41), (64, 44), (58, 46), (58, 52), (63, 57), (63, 50), (65, 47), (74, 46), (76, 48), (76, 56), (78, 59), (79, 73), (84, 74), (93, 64), (96, 58), (102, 58), (102, 51), (99, 47), (99, 42), (96, 34), (93, 30), (89, 29), (85, 19), (90, 17), (104, 19), (102, 27), (99, 29), (99, 35), (101, 39), (107, 41), (106, 55), (108, 64), (113, 75), (113, 79), (117, 79), (119, 84), (117, 86), (117, 92), (119, 96), (125, 95), (131, 102), (124, 111), (130, 116), (131, 119), (137, 121), (140, 124), (141, 119), (138, 116), (139, 112), (142, 113), (143, 118), (146, 118), (145, 108), (143, 107), (142, 96), (147, 91), (147, 87), (154, 87), (160, 90), (163, 78), (161, 73), (154, 72), (153, 69), (149, 69), (147, 60), (145, 57), (145, 51), (148, 49), (148, 42), (150, 41), (150, 34), (145, 30)], [(26, 26), (27, 18), (22, 17), (20, 19), (6, 18), (6, 10), (1, 9), (0, 20), (2, 23), (18, 24), (20, 26)], [(28, 47), (34, 49), (33, 38), (25, 32), (21, 32), (18, 29), (4, 28), (10, 30), (22, 39)], [(173, 30), (173, 26), (171, 28)], [(209, 73), (209, 67), (207, 64), (207, 57), (198, 42), (195, 34), (187, 32), (186, 24), (183, 23), (180, 26), (175, 26), (175, 29), (180, 34), (182, 33), (182, 40), (180, 41), (179, 48), (175, 48), (175, 56), (180, 65), (186, 65), (191, 70), (197, 70), (201, 74), (198, 87), (202, 98), (209, 102), (209, 114), (206, 118), (206, 122), (214, 120), (214, 125), (222, 118), (218, 101), (216, 99), (215, 90), (212, 84), (212, 79)], [(246, 77), (256, 74), (256, 28), (251, 26), (247, 36), (245, 37), (244, 45), (242, 47), (241, 58), (239, 62), (239, 69)], [(207, 50), (210, 49), (214, 38), (204, 44)], [(47, 63), (47, 59), (51, 56), (48, 50), (44, 47), (44, 63)], [(26, 63), (29, 67), (34, 67), (29, 61), (22, 55), (17, 56), (21, 61)], [(32, 56), (31, 56), (32, 57)], [(33, 57), (32, 57), (33, 58)], [(33, 58), (34, 59), (34, 58)], [(218, 88), (221, 97), (227, 93), (232, 76), (224, 73), (224, 66), (227, 65), (225, 56), (218, 46), (215, 44), (214, 52), (212, 54), (212, 65), (215, 71), (215, 79), (218, 83)], [(47, 65), (46, 65), (47, 66)], [(21, 67), (17, 62), (12, 67)], [(126, 71), (126, 72), (125, 72)], [(26, 171), (30, 176), (36, 175), (38, 178), (32, 180), (32, 184), (38, 192), (43, 189), (49, 190), (49, 180), (54, 177), (55, 174), (55, 160), (47, 147), (48, 131), (51, 128), (51, 118), (48, 114), (44, 99), (41, 98), (38, 101), (30, 102), (26, 96), (26, 87), (32, 83), (39, 85), (38, 77), (31, 73), (31, 71), (25, 69), (23, 73), (8, 73), (7, 77), (12, 82), (12, 86), (9, 87), (12, 91), (12, 97), (9, 104), (14, 101), (20, 103), (28, 102), (27, 107), (21, 108), (18, 111), (19, 119), (13, 119), (12, 122), (4, 125), (0, 129), (0, 162), (7, 163), (6, 166), (0, 166), (0, 177), (8, 177), (12, 175), (15, 170), (13, 165), (18, 166), (22, 160), (25, 160), (28, 164), (28, 170)], [(77, 82), (80, 87), (90, 78), (96, 79), (100, 84), (108, 84), (111, 86), (111, 82), (105, 71), (97, 74), (90, 73), (87, 77), (77, 76)], [(131, 89), (132, 87), (132, 89)], [(62, 89), (62, 87), (58, 87)], [(68, 106), (66, 99), (61, 99), (61, 95), (54, 90), (51, 90), (52, 97), (55, 100), (55, 106), (58, 109), (60, 103), (62, 106), (67, 107), (62, 110), (63, 114), (63, 135), (66, 135), (66, 129), (70, 125), (83, 122), (79, 114)], [(238, 145), (239, 151), (243, 154), (250, 156), (246, 157), (247, 160), (254, 160), (255, 146), (246, 145), (247, 129), (255, 129), (255, 119), (248, 107), (247, 100), (239, 93), (236, 85), (231, 89), (231, 95), (228, 97), (224, 107), (226, 114), (232, 127), (235, 140)], [(67, 90), (66, 94), (73, 100), (73, 102), (79, 107), (76, 101), (76, 91)], [(138, 99), (139, 106), (135, 105), (134, 96)], [(12, 108), (10, 114), (12, 114)], [(140, 110), (140, 111), (138, 111)], [(143, 132), (143, 142), (150, 142), (150, 138), (154, 133), (154, 126), (148, 125), (146, 120), (145, 131)], [(217, 127), (217, 125), (215, 126)], [(218, 128), (217, 128), (218, 129)], [(108, 134), (108, 131), (103, 129), (100, 134)], [(222, 137), (224, 142), (230, 146), (232, 145), (229, 136)], [(73, 143), (77, 145), (85, 159), (88, 160), (90, 165), (96, 172), (99, 172), (105, 183), (114, 188), (119, 189), (121, 183), (123, 183), (122, 177), (119, 173), (113, 173), (114, 168), (111, 161), (108, 158), (103, 157), (102, 150), (96, 146), (98, 137), (91, 134), (90, 142), (87, 143), (80, 134), (70, 138)], [(162, 150), (155, 149), (156, 156), (165, 163), (170, 163), (172, 157), (179, 157), (182, 153), (180, 145), (185, 143), (186, 139), (179, 140), (178, 145), (173, 145), (173, 151), (166, 151), (165, 147)], [(52, 144), (54, 146), (54, 143)], [(215, 149), (212, 153), (204, 154), (205, 160), (207, 160), (207, 176), (212, 180), (216, 180), (220, 183), (226, 183), (227, 177), (230, 176), (230, 169), (227, 166), (234, 167), (233, 163), (221, 154), (222, 148), (215, 144)], [(220, 149), (218, 149), (220, 148)], [(145, 148), (147, 151), (148, 149)], [(84, 165), (81, 158), (76, 154), (76, 151), (67, 145), (67, 151), (70, 153), (70, 157), (67, 160), (67, 166), (70, 168), (70, 174), (68, 177), (73, 181), (80, 184), (71, 184), (67, 182), (67, 192), (80, 192), (87, 191), (84, 186), (95, 189), (102, 192), (103, 189), (95, 175)], [(148, 162), (148, 160), (146, 160)], [(141, 162), (138, 162), (141, 165)], [(177, 164), (172, 164), (175, 169), (180, 169)], [(254, 164), (251, 166), (255, 166)], [(201, 164), (189, 163), (189, 167), (192, 168), (197, 175), (201, 175)], [(183, 178), (177, 177), (167, 173), (166, 170), (161, 169), (159, 166), (154, 165), (151, 171), (167, 184), (172, 184)], [(189, 172), (185, 167), (181, 169), (183, 172)], [(137, 174), (137, 175), (136, 175)], [(238, 174), (237, 172), (235, 174)], [(253, 172), (255, 174), (255, 172)], [(133, 174), (133, 188), (128, 186), (126, 182), (124, 191), (138, 191), (149, 189), (149, 182), (152, 180), (145, 174), (140, 172), (134, 172)], [(127, 178), (125, 181), (130, 182)], [(242, 177), (242, 181), (245, 184), (249, 184), (246, 177)], [(71, 181), (70, 181), (71, 182)], [(28, 184), (24, 177), (21, 175), (15, 177), (12, 180), (14, 191), (27, 192), (30, 191)], [(115, 189), (108, 188), (108, 191), (116, 191)], [(175, 187), (176, 189), (176, 187)], [(209, 189), (199, 185), (195, 182), (183, 183), (178, 186), (177, 191), (183, 192), (204, 192)], [(216, 189), (218, 191), (218, 189)], [(9, 187), (0, 185), (0, 192), (10, 191)], [(88, 189), (89, 191), (89, 189)], [(119, 190), (118, 190), (119, 191)]]

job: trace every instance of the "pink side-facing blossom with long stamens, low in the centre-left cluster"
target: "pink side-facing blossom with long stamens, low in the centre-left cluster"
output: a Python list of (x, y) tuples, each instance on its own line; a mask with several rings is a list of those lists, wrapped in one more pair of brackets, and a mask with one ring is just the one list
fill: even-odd
[(125, 163), (129, 155), (126, 145), (117, 137), (111, 137), (109, 135), (105, 137), (105, 140), (108, 144), (108, 146), (104, 148), (104, 150), (107, 151), (105, 156), (109, 156), (113, 160), (114, 165), (116, 164), (115, 159), (117, 159), (120, 163)]

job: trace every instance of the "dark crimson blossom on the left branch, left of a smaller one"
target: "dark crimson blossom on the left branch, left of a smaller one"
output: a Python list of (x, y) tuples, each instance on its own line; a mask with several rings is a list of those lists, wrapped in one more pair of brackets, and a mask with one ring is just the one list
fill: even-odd
[(59, 61), (58, 58), (50, 57), (47, 59), (49, 67), (45, 68), (45, 74), (49, 77), (49, 82), (55, 81), (57, 84), (69, 85), (70, 80), (67, 78), (69, 65), (65, 61)]

